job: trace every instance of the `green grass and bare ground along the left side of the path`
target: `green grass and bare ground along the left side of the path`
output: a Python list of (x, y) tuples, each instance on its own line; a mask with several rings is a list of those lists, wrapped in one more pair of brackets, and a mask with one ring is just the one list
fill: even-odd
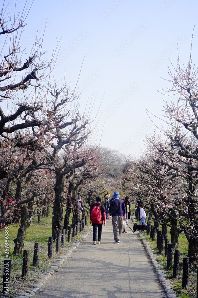
[[(64, 211), (65, 213), (65, 211)], [(29, 265), (29, 273), (28, 277), (24, 278), (22, 277), (22, 263), (23, 261), (20, 259), (23, 257), (22, 255), (18, 257), (14, 257), (12, 255), (12, 252), (14, 250), (14, 242), (13, 240), (17, 236), (19, 224), (14, 224), (9, 226), (9, 258), (12, 260), (12, 263), (17, 262), (14, 264), (11, 268), (11, 276), (10, 276), (10, 291), (8, 297), (14, 297), (19, 293), (22, 293), (30, 288), (32, 288), (32, 285), (37, 283), (39, 279), (39, 274), (44, 271), (46, 268), (49, 268), (58, 260), (58, 257), (62, 254), (65, 254), (68, 248), (74, 243), (77, 239), (80, 239), (83, 233), (86, 231), (83, 231), (83, 233), (78, 233), (78, 236), (75, 236), (74, 238), (71, 237), (71, 242), (67, 242), (67, 234), (66, 234), (66, 243), (64, 247), (61, 247), (61, 252), (56, 252), (56, 241), (53, 243), (53, 257), (52, 259), (49, 259), (47, 257), (47, 251), (48, 251), (48, 238), (51, 237), (52, 234), (52, 217), (53, 215), (50, 215), (49, 217), (41, 216), (40, 223), (38, 224), (38, 217), (35, 216), (32, 220), (32, 224), (27, 229), (26, 237), (24, 241), (24, 247), (23, 249), (27, 250), (33, 250), (34, 249), (34, 242), (40, 243), (40, 249), (39, 249), (39, 265), (38, 267), (33, 267), (33, 253), (30, 254), (30, 265)], [(88, 226), (89, 225), (89, 217), (88, 219)], [(69, 218), (69, 225), (72, 224), (72, 214)], [(0, 268), (3, 267), (5, 254), (4, 254), (4, 229), (1, 232), (1, 238), (0, 238)], [(44, 246), (43, 246), (44, 245)], [(43, 247), (41, 247), (43, 246)], [(0, 293), (2, 293), (2, 275), (3, 270), (0, 271), (0, 277), (1, 277), (1, 283), (0, 283)], [(0, 297), (2, 295), (0, 294)]]

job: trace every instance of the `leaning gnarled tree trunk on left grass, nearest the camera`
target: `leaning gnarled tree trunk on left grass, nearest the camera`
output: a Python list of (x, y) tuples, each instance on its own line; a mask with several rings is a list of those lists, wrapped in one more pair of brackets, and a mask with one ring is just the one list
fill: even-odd
[(24, 246), (24, 239), (26, 236), (26, 231), (30, 226), (29, 223), (29, 216), (28, 216), (28, 207), (24, 204), (21, 207), (21, 224), (20, 228), (18, 229), (17, 238), (14, 239), (15, 248), (13, 251), (14, 256), (18, 256), (22, 254), (22, 249)]

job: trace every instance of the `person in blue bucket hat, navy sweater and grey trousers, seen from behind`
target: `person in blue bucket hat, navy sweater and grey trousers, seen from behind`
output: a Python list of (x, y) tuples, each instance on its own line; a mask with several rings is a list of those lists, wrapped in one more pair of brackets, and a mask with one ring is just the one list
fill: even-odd
[[(113, 236), (115, 244), (120, 243), (122, 235), (122, 224), (123, 220), (126, 220), (126, 206), (124, 201), (120, 200), (120, 194), (115, 191), (112, 195), (112, 200), (109, 206), (109, 219), (112, 218)], [(112, 216), (110, 215), (112, 214)]]

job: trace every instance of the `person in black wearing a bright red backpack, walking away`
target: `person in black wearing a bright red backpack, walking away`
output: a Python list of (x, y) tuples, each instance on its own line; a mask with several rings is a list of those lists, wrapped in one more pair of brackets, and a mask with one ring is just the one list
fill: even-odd
[(93, 226), (93, 245), (96, 245), (97, 240), (97, 229), (98, 229), (98, 244), (100, 244), (102, 236), (102, 224), (104, 221), (104, 226), (106, 225), (106, 213), (105, 207), (101, 204), (102, 197), (97, 195), (96, 203), (93, 203), (90, 208), (90, 221)]

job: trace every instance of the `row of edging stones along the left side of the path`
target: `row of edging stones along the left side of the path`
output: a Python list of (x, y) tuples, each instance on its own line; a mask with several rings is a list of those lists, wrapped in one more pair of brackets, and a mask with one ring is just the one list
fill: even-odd
[(34, 296), (35, 293), (37, 293), (42, 288), (42, 286), (46, 283), (48, 278), (51, 277), (55, 273), (55, 271), (58, 270), (59, 267), (61, 267), (61, 265), (65, 262), (65, 260), (67, 260), (68, 257), (73, 253), (73, 251), (78, 246), (80, 246), (80, 244), (83, 243), (83, 241), (85, 241), (85, 239), (91, 232), (92, 232), (92, 229), (88, 229), (88, 231), (85, 232), (85, 234), (82, 235), (82, 237), (79, 240), (76, 240), (75, 243), (73, 243), (72, 246), (69, 247), (66, 254), (58, 257), (59, 260), (56, 263), (54, 263), (51, 267), (43, 271), (39, 276), (38, 282), (35, 285), (33, 285), (34, 288), (32, 288), (31, 290), (26, 290), (24, 293), (20, 293), (20, 296), (15, 296), (14, 298), (27, 298), (27, 297), (31, 298), (32, 296)]

